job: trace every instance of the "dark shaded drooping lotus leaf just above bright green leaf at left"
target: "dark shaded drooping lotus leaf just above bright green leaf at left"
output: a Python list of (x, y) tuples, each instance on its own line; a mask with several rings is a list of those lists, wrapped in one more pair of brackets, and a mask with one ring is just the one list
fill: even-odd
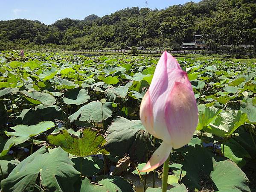
[(15, 124), (35, 125), (41, 121), (54, 121), (54, 119), (62, 119), (61, 111), (58, 106), (38, 105), (35, 109), (23, 109), (19, 116), (15, 119)]

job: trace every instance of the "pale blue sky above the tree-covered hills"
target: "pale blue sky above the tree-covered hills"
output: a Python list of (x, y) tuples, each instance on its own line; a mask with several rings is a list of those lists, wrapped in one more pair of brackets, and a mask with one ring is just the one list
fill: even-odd
[[(147, 0), (151, 9), (189, 1), (200, 0)], [(52, 24), (65, 17), (82, 20), (91, 14), (102, 17), (126, 7), (145, 7), (145, 0), (0, 0), (0, 5), (0, 20), (25, 18)]]

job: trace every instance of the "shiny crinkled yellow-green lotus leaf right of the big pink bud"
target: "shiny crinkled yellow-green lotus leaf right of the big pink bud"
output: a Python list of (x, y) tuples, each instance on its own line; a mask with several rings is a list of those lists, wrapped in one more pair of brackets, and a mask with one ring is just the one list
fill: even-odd
[(234, 110), (226, 111), (220, 113), (215, 122), (210, 123), (204, 130), (220, 137), (227, 137), (236, 131), (240, 125), (243, 125), (246, 119), (246, 113)]

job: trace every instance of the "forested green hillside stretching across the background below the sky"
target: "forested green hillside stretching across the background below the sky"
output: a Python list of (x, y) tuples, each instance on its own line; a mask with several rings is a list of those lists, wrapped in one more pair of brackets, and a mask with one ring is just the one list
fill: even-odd
[(256, 44), (256, 0), (202, 0), (164, 10), (126, 8), (111, 15), (65, 18), (52, 25), (0, 21), (0, 49), (17, 44), (57, 44), (71, 49), (171, 47), (203, 34), (208, 43)]

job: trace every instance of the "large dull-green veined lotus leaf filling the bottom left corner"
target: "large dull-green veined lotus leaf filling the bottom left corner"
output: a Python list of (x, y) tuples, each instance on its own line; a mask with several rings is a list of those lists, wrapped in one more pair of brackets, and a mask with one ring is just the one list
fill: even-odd
[(47, 153), (44, 146), (17, 165), (2, 180), (1, 189), (5, 192), (33, 192), (40, 184), (48, 191), (71, 192), (80, 175), (73, 166), (63, 149), (59, 147)]

